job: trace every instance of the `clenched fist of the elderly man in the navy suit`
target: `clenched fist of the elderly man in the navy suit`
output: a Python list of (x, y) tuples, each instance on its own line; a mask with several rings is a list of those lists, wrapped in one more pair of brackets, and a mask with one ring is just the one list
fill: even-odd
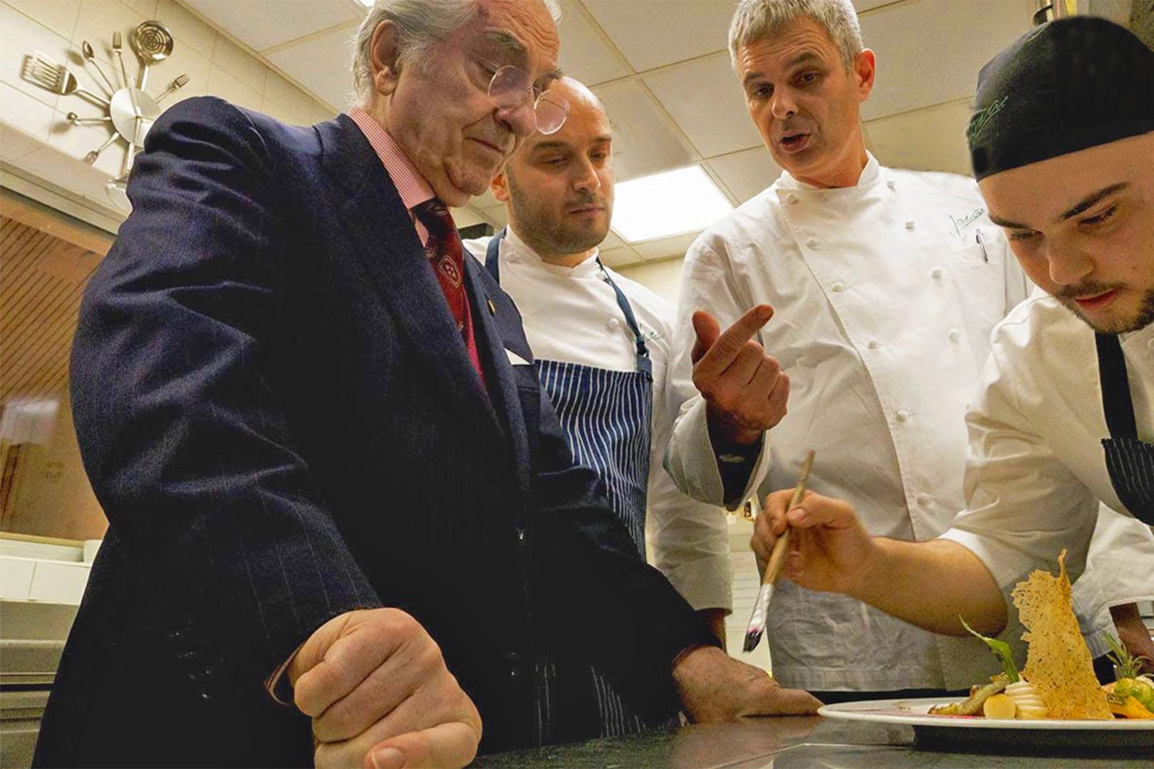
[(288, 679), (313, 718), (317, 767), (464, 767), (477, 755), (477, 707), (399, 609), (330, 619), (297, 653)]

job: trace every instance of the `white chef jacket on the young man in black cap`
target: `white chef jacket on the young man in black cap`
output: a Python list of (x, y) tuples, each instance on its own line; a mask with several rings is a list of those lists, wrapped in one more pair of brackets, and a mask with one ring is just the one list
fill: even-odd
[[(997, 326), (991, 348), (967, 414), (967, 506), (943, 537), (974, 551), (1009, 590), (1034, 568), (1057, 571), (1063, 549), (1077, 574), (1093, 533), (1088, 558), (1110, 605), (1149, 601), (1154, 537), (1106, 469), (1093, 330), (1039, 292)], [(1154, 443), (1154, 325), (1124, 334), (1122, 352), (1138, 437)]]

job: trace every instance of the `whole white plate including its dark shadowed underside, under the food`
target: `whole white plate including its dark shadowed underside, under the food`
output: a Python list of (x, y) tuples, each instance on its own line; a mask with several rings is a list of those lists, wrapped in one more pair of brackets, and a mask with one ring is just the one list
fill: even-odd
[(826, 718), (913, 726), (914, 746), (930, 751), (1025, 755), (1093, 754), (1101, 751), (1134, 756), (1154, 754), (1154, 719), (1018, 721), (929, 714), (936, 704), (962, 701), (965, 698), (844, 702), (822, 706), (817, 713)]

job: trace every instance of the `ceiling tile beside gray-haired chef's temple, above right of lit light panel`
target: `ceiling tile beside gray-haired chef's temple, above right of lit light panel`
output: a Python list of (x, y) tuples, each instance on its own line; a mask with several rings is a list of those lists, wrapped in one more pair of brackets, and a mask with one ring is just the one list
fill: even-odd
[(642, 80), (702, 156), (760, 146), (728, 53), (664, 67)]

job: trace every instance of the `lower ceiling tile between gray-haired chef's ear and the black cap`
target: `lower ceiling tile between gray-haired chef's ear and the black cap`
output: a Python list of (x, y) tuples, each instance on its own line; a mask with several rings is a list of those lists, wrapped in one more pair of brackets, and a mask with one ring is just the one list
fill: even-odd
[(969, 175), (966, 149), (969, 112), (969, 100), (964, 99), (874, 120), (865, 128), (882, 165)]

